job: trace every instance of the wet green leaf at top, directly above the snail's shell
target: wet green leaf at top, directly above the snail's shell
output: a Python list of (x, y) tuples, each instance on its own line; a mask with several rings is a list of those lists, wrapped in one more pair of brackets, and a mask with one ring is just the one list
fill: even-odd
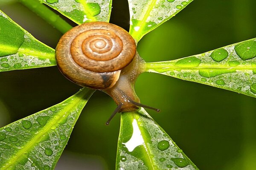
[(77, 24), (109, 22), (112, 0), (40, 0)]

